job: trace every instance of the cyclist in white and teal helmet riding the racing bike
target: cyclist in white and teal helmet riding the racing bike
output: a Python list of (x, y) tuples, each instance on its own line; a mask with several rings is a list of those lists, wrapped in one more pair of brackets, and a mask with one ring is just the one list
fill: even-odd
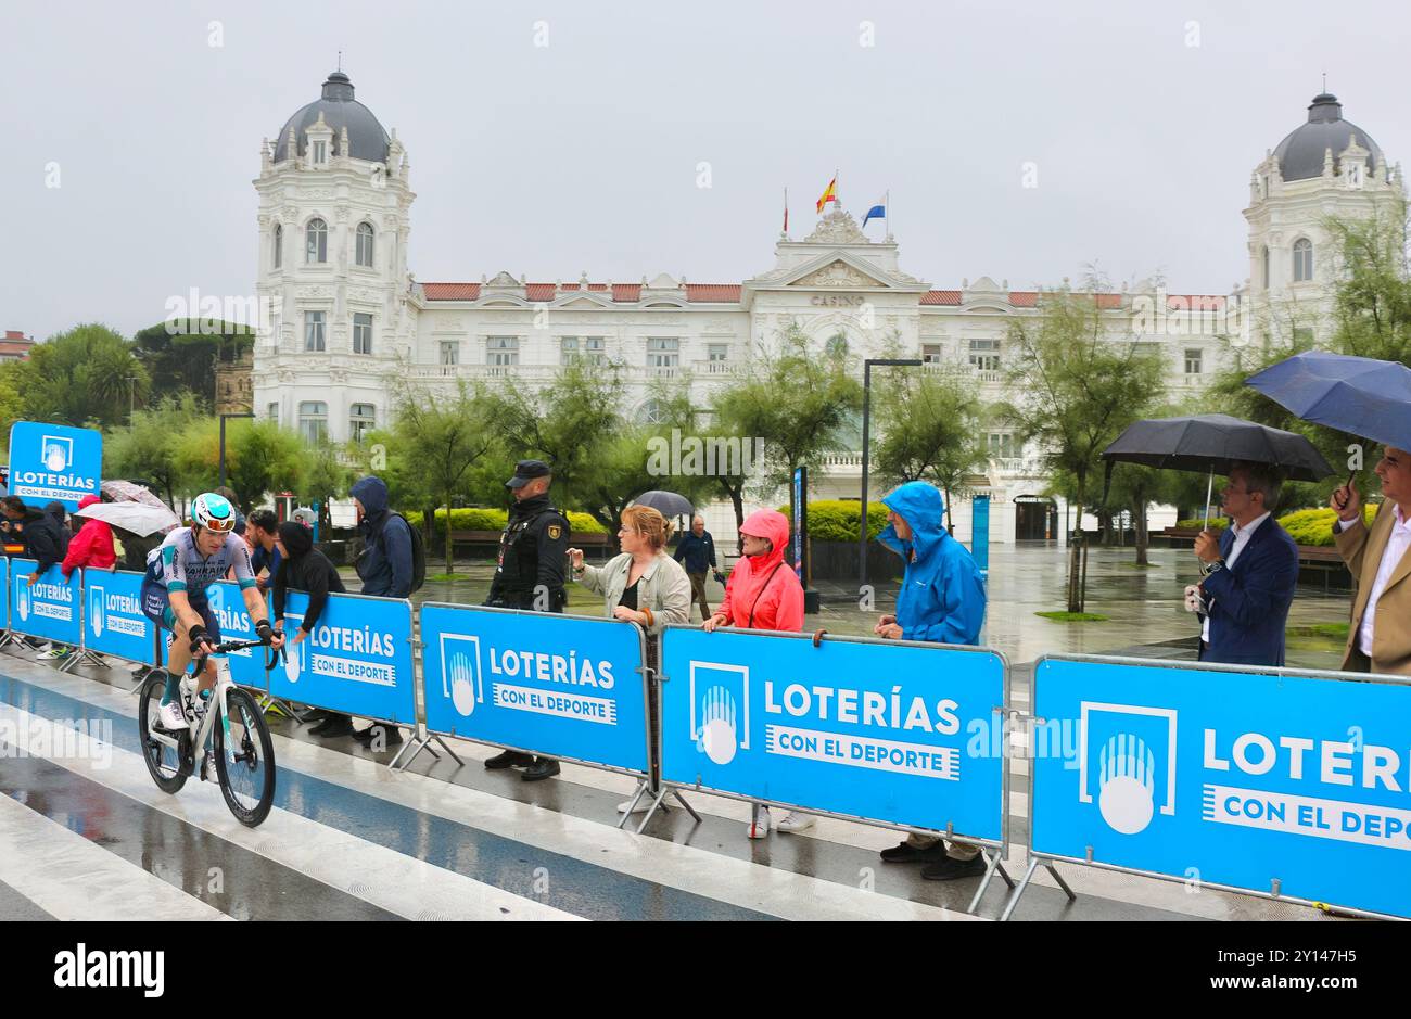
[[(186, 717), (181, 706), (181, 680), (192, 658), (209, 653), (220, 644), (220, 621), (207, 601), (207, 589), (234, 572), (246, 608), (255, 624), (255, 635), (279, 646), (284, 634), (270, 625), (264, 598), (250, 569), (250, 546), (236, 535), (236, 508), (223, 495), (203, 493), (190, 507), (190, 526), (178, 528), (147, 557), (143, 577), (143, 614), (162, 629), (172, 632), (166, 655), (166, 690), (158, 710), (161, 728), (181, 731)], [(196, 696), (212, 689), (216, 663), (206, 662)]]

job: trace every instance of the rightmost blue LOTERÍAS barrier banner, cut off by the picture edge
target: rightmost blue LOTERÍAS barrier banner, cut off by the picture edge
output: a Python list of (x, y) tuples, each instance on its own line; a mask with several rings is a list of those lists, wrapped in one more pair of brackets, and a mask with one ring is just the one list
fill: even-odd
[(1046, 658), (1034, 714), (1036, 855), (1411, 917), (1411, 686)]

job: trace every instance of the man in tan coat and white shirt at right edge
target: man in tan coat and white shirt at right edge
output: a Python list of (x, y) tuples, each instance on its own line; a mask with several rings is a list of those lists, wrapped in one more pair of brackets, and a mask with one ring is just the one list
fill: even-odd
[(1411, 453), (1387, 446), (1377, 477), (1386, 501), (1370, 528), (1356, 488), (1332, 494), (1333, 541), (1357, 583), (1342, 668), (1411, 675)]

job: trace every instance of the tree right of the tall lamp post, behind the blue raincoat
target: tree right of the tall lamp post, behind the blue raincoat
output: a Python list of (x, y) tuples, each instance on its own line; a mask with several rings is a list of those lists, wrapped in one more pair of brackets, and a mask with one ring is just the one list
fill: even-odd
[(927, 480), (945, 494), (947, 524), (954, 501), (969, 493), (968, 478), (985, 467), (982, 423), (986, 408), (972, 373), (945, 364), (921, 371), (896, 370), (873, 390), (882, 433), (872, 456), (883, 480)]

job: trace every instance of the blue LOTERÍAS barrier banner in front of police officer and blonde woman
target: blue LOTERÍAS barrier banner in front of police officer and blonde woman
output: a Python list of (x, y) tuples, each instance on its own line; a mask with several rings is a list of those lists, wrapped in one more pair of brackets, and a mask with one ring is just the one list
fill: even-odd
[(641, 670), (631, 622), (422, 605), (429, 732), (645, 775)]

